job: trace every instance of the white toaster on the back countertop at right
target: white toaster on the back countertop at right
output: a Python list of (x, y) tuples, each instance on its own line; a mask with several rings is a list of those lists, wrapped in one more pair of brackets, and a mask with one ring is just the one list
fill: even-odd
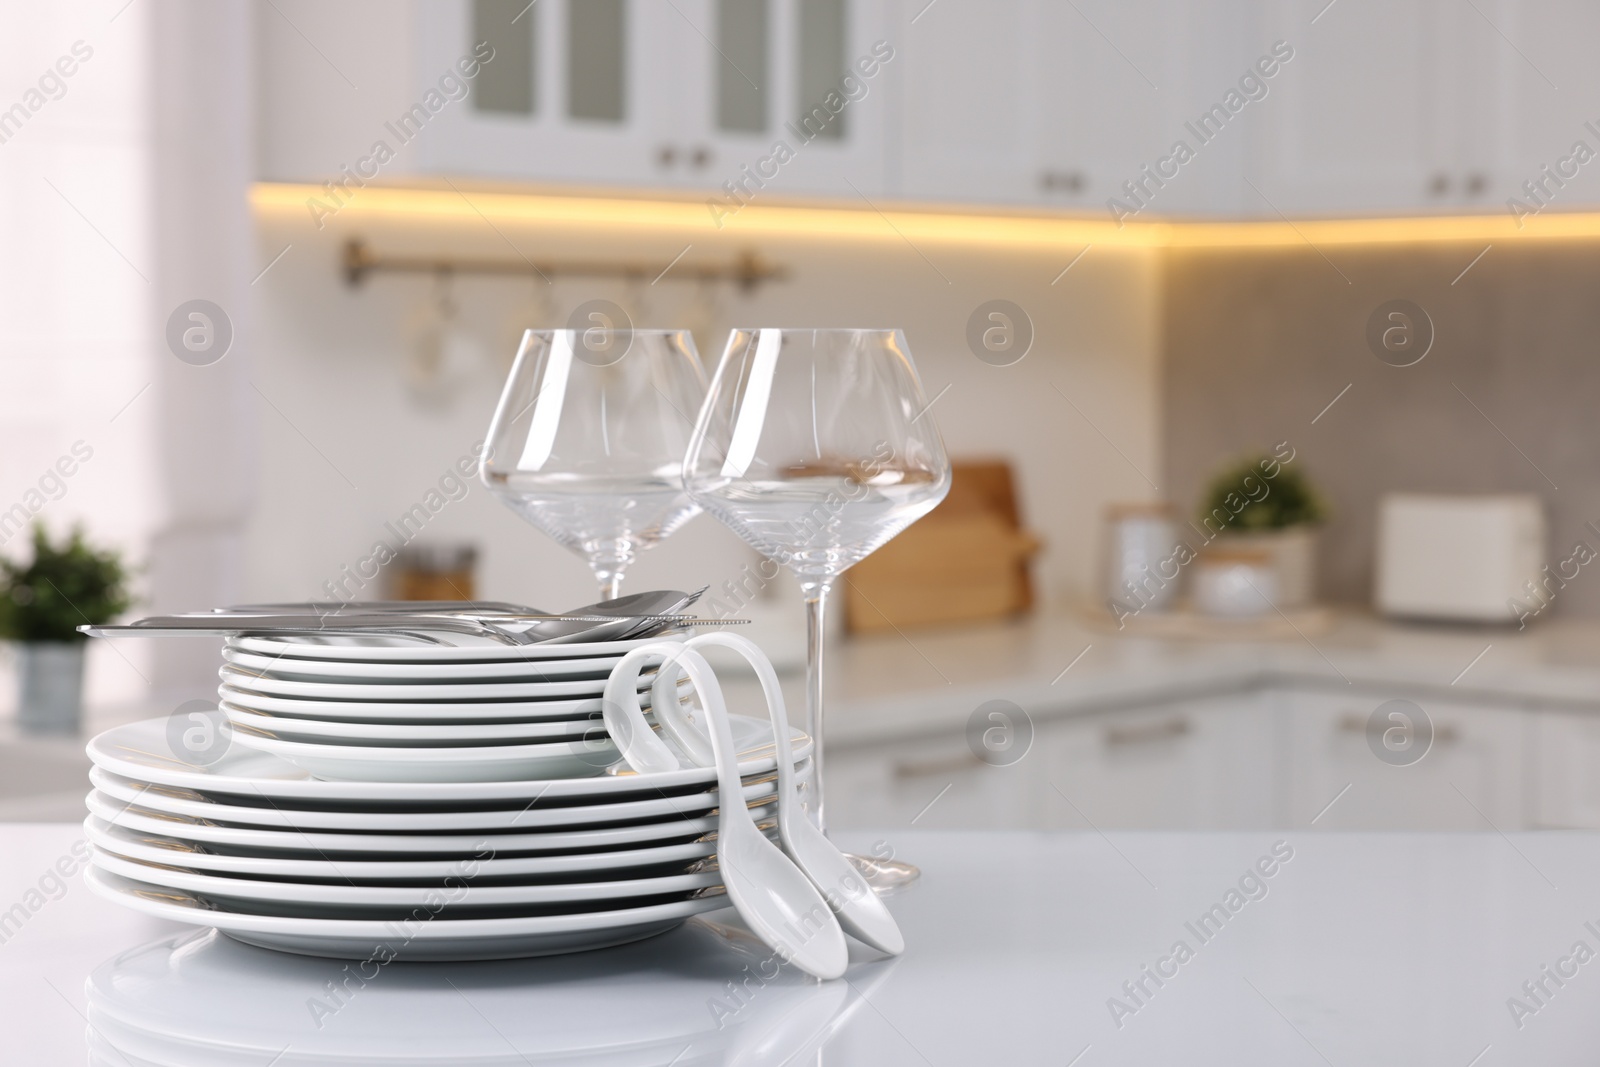
[(1538, 611), (1544, 506), (1533, 493), (1387, 493), (1378, 506), (1373, 600), (1389, 616), (1515, 622)]

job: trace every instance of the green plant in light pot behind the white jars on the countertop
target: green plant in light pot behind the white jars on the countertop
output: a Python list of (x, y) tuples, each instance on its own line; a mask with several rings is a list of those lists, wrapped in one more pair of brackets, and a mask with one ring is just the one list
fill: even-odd
[(1277, 606), (1304, 608), (1317, 592), (1317, 523), (1325, 517), (1304, 470), (1262, 454), (1218, 472), (1198, 528), (1218, 547), (1266, 552), (1277, 574)]

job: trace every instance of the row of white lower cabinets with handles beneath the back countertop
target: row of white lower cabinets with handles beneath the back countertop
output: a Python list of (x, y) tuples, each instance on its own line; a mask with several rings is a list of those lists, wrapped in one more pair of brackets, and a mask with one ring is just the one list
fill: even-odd
[[(979, 745), (981, 749), (981, 745)], [(829, 752), (846, 829), (1600, 829), (1600, 709), (1296, 683)]]

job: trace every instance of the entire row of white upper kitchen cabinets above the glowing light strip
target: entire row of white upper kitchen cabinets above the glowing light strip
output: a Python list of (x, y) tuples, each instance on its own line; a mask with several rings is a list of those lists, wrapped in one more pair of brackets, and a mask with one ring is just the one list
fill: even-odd
[[(1600, 165), (1573, 162), (1578, 141), (1600, 152), (1584, 53), (1600, 6), (1312, 6), (278, 0), (256, 16), (259, 173), (339, 181), (386, 139), (384, 179), (662, 187), (726, 208), (822, 195), (1090, 214), (1117, 198), (1139, 219), (1504, 211), (1510, 197), (1539, 208), (1530, 181), (1558, 210), (1600, 200)], [(322, 45), (294, 29), (307, 26)], [(434, 109), (478, 40), (494, 59)], [(1277, 42), (1293, 59), (1197, 136)], [(389, 133), (419, 106), (426, 130)], [(1179, 141), (1192, 157), (1174, 163)]]

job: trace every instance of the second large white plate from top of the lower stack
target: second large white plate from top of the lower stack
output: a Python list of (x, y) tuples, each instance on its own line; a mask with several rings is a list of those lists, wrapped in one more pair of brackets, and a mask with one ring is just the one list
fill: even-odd
[[(598, 829), (670, 819), (674, 816), (704, 816), (717, 808), (715, 790), (685, 793), (678, 797), (650, 797), (624, 800), (613, 805), (571, 805), (565, 808), (499, 808), (493, 811), (302, 811), (296, 808), (226, 805), (206, 800), (189, 790), (173, 792), (165, 785), (146, 785), (112, 774), (104, 768), (90, 768), (90, 782), (112, 800), (138, 805), (149, 811), (205, 819), (226, 825), (262, 827), (269, 830), (352, 830), (368, 833), (435, 833), (482, 830), (549, 830), (549, 829)], [(755, 779), (744, 787), (747, 805), (771, 803), (776, 795), (771, 776)]]

